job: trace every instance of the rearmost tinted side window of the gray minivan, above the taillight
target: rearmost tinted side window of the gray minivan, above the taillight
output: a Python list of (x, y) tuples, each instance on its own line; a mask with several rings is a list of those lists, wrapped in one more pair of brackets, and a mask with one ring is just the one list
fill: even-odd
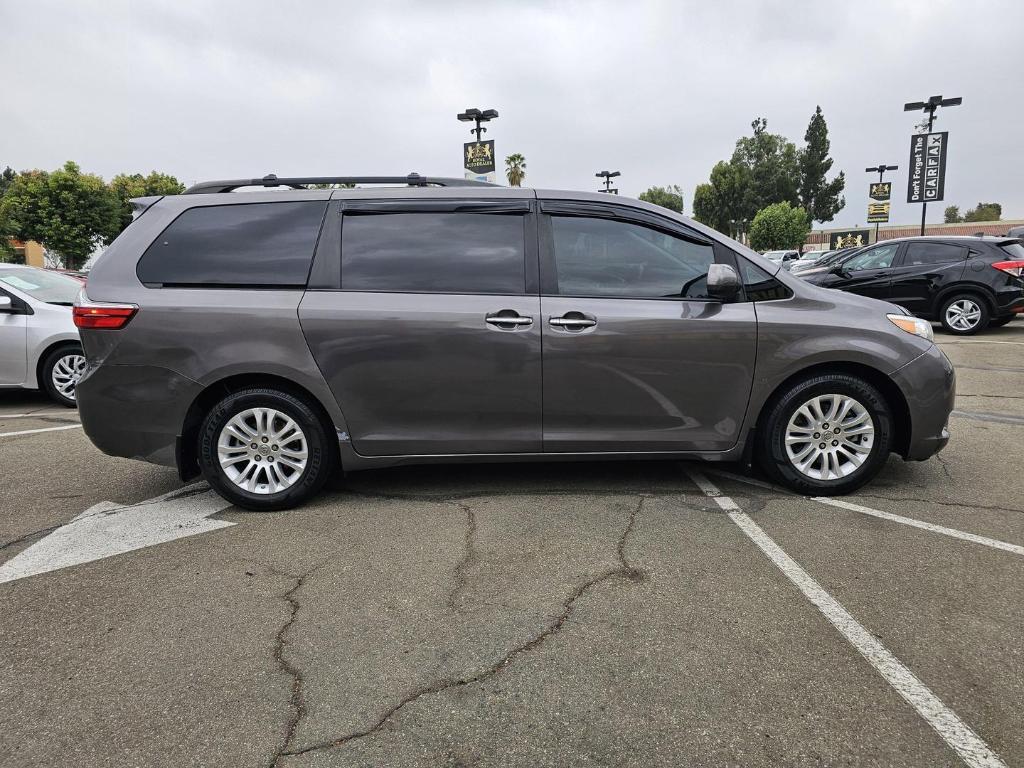
[(304, 286), (326, 202), (191, 208), (138, 262), (142, 283)]

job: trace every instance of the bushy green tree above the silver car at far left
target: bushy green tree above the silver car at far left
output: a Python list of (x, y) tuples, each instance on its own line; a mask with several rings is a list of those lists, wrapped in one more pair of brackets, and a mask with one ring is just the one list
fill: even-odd
[(0, 218), (15, 238), (42, 243), (69, 269), (80, 269), (98, 245), (117, 237), (121, 213), (121, 201), (103, 180), (71, 161), (52, 173), (19, 174), (0, 202)]

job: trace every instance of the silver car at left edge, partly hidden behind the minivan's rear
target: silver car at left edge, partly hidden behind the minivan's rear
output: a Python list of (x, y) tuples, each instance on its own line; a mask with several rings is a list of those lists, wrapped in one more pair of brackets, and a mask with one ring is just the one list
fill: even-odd
[(71, 308), (80, 290), (53, 269), (0, 264), (0, 387), (41, 388), (75, 407), (85, 370)]

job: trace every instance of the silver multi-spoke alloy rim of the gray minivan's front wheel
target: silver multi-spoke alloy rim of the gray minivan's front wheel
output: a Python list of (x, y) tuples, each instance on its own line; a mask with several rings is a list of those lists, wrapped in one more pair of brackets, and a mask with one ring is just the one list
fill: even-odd
[(822, 394), (798, 408), (785, 427), (785, 453), (801, 474), (839, 480), (856, 472), (874, 444), (874, 422), (855, 398)]

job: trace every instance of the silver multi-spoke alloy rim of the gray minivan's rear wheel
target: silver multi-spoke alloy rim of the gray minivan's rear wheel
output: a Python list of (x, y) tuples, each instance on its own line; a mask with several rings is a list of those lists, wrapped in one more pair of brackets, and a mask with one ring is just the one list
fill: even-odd
[(309, 460), (306, 436), (295, 421), (272, 408), (252, 408), (232, 416), (217, 439), (217, 461), (232, 483), (250, 494), (287, 490), (302, 477)]

